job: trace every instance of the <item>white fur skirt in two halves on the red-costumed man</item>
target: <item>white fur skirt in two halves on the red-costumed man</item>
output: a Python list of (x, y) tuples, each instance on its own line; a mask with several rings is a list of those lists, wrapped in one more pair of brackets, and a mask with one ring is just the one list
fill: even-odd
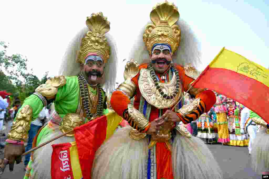
[[(147, 179), (148, 138), (133, 140), (129, 136), (131, 129), (119, 129), (97, 150), (92, 179)], [(214, 156), (197, 137), (186, 138), (177, 133), (172, 144), (172, 166), (174, 178), (222, 178)], [(155, 175), (151, 179), (160, 178)]]

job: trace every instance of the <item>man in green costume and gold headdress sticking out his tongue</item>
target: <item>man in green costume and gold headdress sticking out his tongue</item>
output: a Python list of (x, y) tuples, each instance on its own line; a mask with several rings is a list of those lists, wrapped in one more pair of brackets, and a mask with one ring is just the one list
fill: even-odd
[[(54, 101), (55, 111), (48, 124), (39, 130), (33, 147), (107, 113), (106, 93), (101, 86), (108, 91), (114, 89), (116, 45), (105, 34), (110, 23), (101, 12), (87, 17), (86, 24), (65, 52), (60, 70), (63, 76), (49, 79), (24, 100), (6, 140), (2, 171), (6, 163), (13, 170), (15, 160), (20, 162), (31, 121), (49, 101)], [(51, 145), (73, 141), (74, 134), (69, 133), (34, 151), (24, 178), (51, 178)]]

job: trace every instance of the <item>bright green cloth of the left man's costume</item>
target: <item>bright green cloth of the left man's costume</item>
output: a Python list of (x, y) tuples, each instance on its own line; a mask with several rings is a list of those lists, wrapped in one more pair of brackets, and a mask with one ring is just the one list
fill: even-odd
[[(68, 113), (76, 113), (77, 107), (79, 105), (79, 81), (77, 76), (65, 76), (66, 84), (58, 89), (58, 92), (55, 96), (55, 111), (59, 114), (61, 118), (63, 118)], [(90, 91), (97, 95), (97, 90), (93, 89), (92, 87), (88, 86)], [(105, 93), (102, 91), (103, 99), (105, 99)], [(25, 105), (30, 105), (33, 109), (33, 119), (35, 120), (38, 117), (38, 114), (43, 109), (44, 105), (39, 97), (36, 95), (31, 95), (24, 100), (22, 108)], [(20, 109), (22, 109), (20, 108)], [(20, 111), (19, 109), (19, 111)], [(19, 112), (18, 111), (18, 112)], [(107, 114), (108, 109), (104, 109), (103, 114)], [(16, 118), (15, 118), (16, 120)], [(88, 120), (86, 120), (88, 122)], [(36, 145), (40, 143), (42, 139), (44, 139), (48, 134), (52, 133), (53, 130), (48, 126), (44, 126), (40, 133), (38, 134)], [(32, 170), (32, 159), (28, 163), (27, 170), (24, 176), (24, 179), (29, 179), (29, 175), (33, 172)]]

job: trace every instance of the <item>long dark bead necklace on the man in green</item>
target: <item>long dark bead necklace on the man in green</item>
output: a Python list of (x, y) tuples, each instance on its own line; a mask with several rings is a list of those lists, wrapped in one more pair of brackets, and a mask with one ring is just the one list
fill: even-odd
[(86, 112), (86, 118), (91, 120), (91, 118), (96, 118), (97, 116), (103, 115), (103, 96), (102, 96), (102, 90), (101, 85), (97, 84), (97, 92), (98, 92), (98, 105), (97, 105), (97, 111), (95, 114), (91, 114), (91, 109), (89, 108), (89, 90), (88, 90), (88, 82), (84, 78), (83, 74), (79, 74), (78, 76), (79, 80), (79, 88), (80, 88), (80, 96), (82, 98), (82, 104), (84, 107), (84, 111)]

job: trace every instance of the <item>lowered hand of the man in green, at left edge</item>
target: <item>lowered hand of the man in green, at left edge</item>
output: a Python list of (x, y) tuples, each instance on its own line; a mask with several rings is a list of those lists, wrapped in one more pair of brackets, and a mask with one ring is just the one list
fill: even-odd
[(9, 170), (13, 171), (14, 163), (19, 164), (22, 161), (22, 154), (25, 152), (23, 144), (6, 144), (4, 158), (0, 161), (0, 174), (3, 174), (6, 165), (9, 164)]

